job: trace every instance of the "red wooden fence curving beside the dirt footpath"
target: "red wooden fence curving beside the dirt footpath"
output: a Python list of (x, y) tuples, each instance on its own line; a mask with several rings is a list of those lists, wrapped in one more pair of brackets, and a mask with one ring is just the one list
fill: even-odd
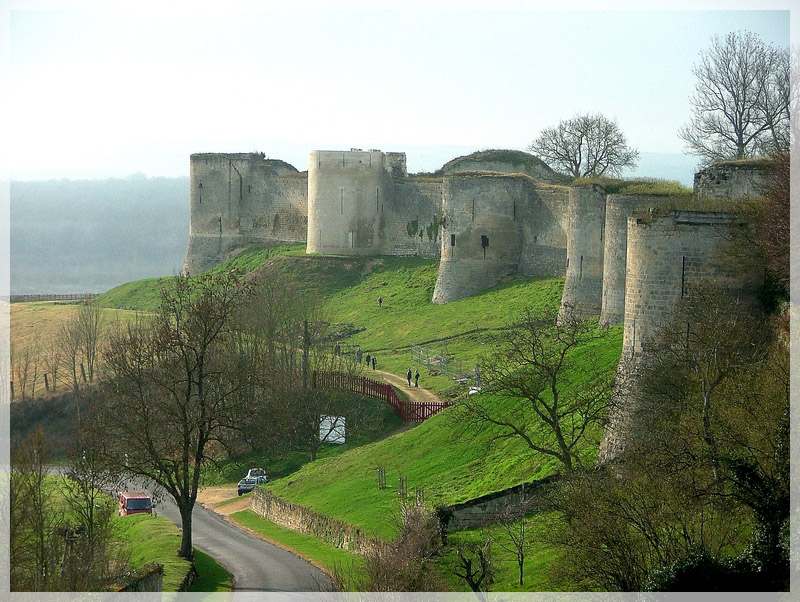
[(311, 375), (314, 389), (340, 389), (385, 401), (394, 408), (401, 420), (422, 422), (437, 412), (449, 408), (449, 401), (403, 401), (394, 387), (388, 383), (372, 380), (366, 376), (342, 374), (340, 372), (317, 372)]

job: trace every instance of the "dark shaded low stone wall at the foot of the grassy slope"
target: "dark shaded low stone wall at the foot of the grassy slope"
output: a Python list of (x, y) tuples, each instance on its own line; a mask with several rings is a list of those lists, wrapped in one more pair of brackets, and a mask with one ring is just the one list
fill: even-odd
[(460, 531), (483, 527), (497, 522), (511, 506), (524, 500), (526, 511), (530, 512), (542, 507), (543, 496), (559, 475), (552, 475), (495, 491), (481, 497), (436, 509), (439, 517), (439, 528), (443, 534), (448, 531)]

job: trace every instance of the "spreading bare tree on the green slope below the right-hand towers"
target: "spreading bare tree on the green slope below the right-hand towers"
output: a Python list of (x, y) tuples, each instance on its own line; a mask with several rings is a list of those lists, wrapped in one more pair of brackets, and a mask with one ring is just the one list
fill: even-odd
[[(519, 438), (566, 470), (580, 466), (579, 443), (605, 415), (613, 381), (613, 366), (581, 348), (607, 336), (569, 310), (560, 316), (525, 310), (496, 337), (482, 367), (483, 391), (459, 400), (453, 419), (468, 432), (488, 430), (492, 441)], [(577, 371), (587, 375), (578, 387), (570, 384)], [(498, 404), (499, 396), (509, 405)]]

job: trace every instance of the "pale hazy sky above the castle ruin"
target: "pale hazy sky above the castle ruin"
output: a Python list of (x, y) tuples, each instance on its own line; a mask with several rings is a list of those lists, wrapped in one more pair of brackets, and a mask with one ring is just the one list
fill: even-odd
[[(706, 4), (721, 3), (692, 6)], [(472, 150), (524, 150), (583, 112), (615, 118), (642, 153), (680, 153), (711, 37), (789, 44), (785, 10), (352, 6), (12, 11), (10, 175), (188, 175), (191, 153), (255, 150), (303, 170), (311, 149), (350, 147), (433, 170)]]

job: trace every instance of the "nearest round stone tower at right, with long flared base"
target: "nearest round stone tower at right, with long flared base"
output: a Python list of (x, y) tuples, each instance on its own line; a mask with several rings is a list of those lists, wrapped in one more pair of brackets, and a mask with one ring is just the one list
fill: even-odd
[(639, 373), (647, 364), (659, 328), (693, 285), (713, 282), (731, 294), (755, 298), (763, 270), (731, 261), (724, 253), (729, 213), (671, 211), (666, 216), (628, 218), (625, 327), (618, 388), (599, 462), (625, 450), (630, 418), (641, 395)]

